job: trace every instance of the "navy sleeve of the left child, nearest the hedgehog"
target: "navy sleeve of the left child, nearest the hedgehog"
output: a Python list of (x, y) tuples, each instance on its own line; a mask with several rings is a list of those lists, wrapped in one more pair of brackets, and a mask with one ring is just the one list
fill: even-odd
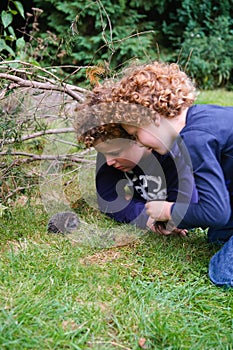
[(146, 228), (148, 215), (145, 211), (145, 201), (125, 199), (127, 182), (122, 171), (108, 166), (105, 157), (101, 153), (97, 154), (96, 190), (100, 211), (118, 222)]

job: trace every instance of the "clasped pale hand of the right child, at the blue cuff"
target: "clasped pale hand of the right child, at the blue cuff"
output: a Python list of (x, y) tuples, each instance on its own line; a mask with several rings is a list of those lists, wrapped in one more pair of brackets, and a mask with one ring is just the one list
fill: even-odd
[(147, 202), (146, 212), (154, 221), (169, 221), (171, 219), (172, 202), (150, 201)]

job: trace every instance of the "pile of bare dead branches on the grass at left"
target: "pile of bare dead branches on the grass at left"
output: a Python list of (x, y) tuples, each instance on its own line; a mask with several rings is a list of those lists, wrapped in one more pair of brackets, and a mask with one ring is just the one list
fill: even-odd
[[(85, 68), (76, 67), (73, 74)], [(25, 170), (26, 164), (48, 161), (67, 167), (93, 162), (77, 145), (73, 129), (75, 108), (87, 90), (68, 84), (68, 78), (59, 78), (56, 67), (0, 62), (0, 201), (43, 176), (41, 168)]]

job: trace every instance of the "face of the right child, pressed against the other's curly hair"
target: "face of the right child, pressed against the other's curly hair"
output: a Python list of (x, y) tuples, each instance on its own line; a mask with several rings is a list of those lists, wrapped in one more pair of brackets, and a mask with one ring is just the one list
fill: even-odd
[(122, 124), (122, 126), (138, 142), (160, 154), (169, 152), (175, 139), (169, 132), (168, 125), (163, 125), (163, 123), (160, 123), (159, 126), (152, 123), (141, 127), (129, 124)]

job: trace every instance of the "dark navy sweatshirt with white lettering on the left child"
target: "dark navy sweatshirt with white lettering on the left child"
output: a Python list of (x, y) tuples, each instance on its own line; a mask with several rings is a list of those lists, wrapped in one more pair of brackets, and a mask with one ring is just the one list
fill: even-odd
[[(106, 164), (97, 154), (96, 189), (99, 209), (122, 223), (145, 228), (148, 200), (167, 200), (182, 203), (197, 201), (193, 176), (175, 146), (173, 154), (160, 155), (153, 151), (143, 157), (131, 172), (122, 172)], [(131, 199), (126, 199), (126, 187)]]

